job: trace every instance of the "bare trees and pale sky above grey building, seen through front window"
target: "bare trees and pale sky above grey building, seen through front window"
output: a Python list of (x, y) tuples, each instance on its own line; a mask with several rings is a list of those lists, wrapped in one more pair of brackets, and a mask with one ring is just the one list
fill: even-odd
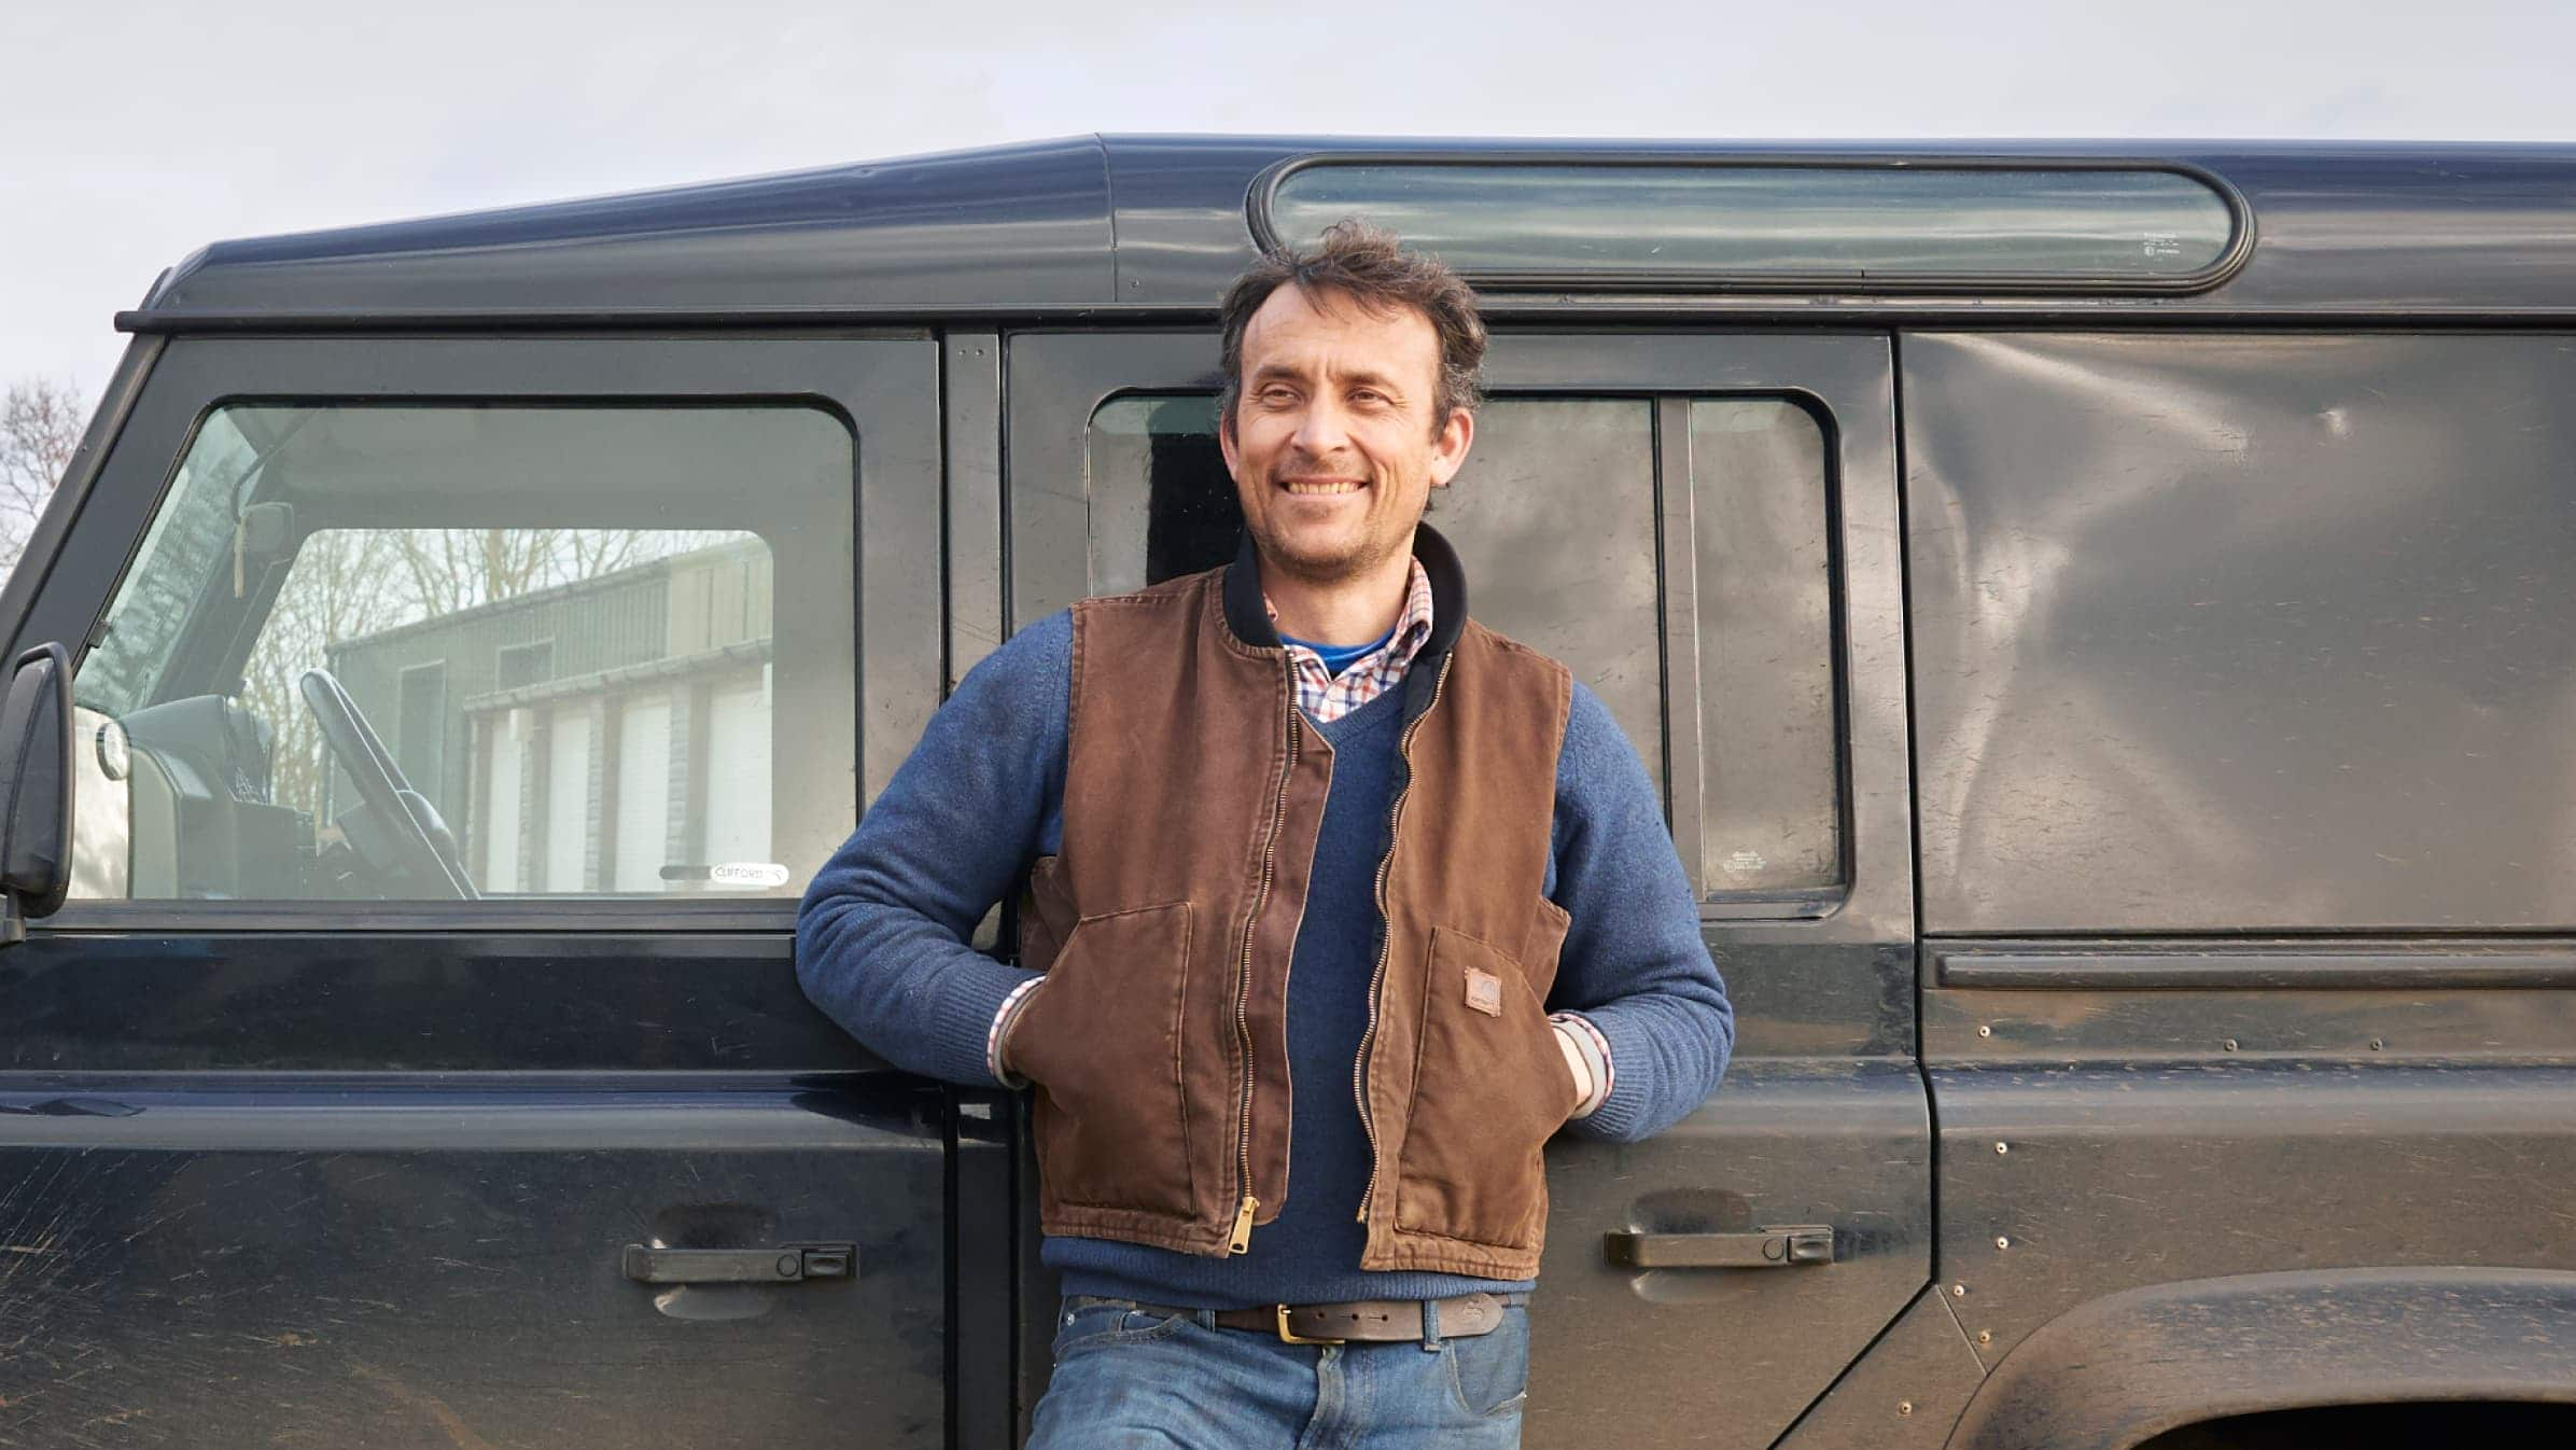
[(322, 734), (296, 677), (350, 639), (446, 618), (703, 546), (649, 528), (330, 528), (309, 536), (242, 667), (242, 701), (276, 729), (276, 804), (322, 819)]

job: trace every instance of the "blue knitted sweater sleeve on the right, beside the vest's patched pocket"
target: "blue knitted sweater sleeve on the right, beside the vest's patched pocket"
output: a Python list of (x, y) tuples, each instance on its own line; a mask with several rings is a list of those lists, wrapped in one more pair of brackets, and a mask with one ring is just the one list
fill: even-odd
[(1633, 1144), (1716, 1092), (1736, 1043), (1700, 904), (1610, 708), (1574, 685), (1556, 760), (1553, 901), (1574, 919), (1548, 1007), (1607, 1048), (1610, 1092), (1571, 1133)]

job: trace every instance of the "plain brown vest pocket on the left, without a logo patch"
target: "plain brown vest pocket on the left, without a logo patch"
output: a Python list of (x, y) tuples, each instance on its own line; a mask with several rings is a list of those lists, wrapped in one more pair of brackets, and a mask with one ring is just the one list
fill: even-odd
[(1038, 1084), (1046, 1195), (1188, 1216), (1190, 1123), (1180, 1043), (1190, 904), (1082, 917), (1010, 1033), (1010, 1066)]

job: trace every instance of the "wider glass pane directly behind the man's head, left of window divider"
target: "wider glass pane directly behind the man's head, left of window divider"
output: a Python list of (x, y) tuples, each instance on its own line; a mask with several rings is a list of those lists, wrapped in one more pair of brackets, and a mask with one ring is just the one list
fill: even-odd
[[(1090, 430), (1095, 595), (1234, 559), (1242, 510), (1208, 397), (1121, 397)], [(1664, 670), (1654, 577), (1654, 410), (1646, 399), (1494, 399), (1476, 448), (1432, 494), (1468, 608), (1564, 659), (1664, 783)]]

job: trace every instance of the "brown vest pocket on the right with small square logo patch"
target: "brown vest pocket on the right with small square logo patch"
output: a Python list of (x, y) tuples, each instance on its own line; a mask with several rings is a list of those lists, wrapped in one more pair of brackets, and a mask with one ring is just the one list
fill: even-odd
[(1574, 1110), (1574, 1077), (1520, 963), (1448, 927), (1432, 927), (1412, 1097), (1396, 1223), (1535, 1249), (1548, 1226), (1546, 1144)]

